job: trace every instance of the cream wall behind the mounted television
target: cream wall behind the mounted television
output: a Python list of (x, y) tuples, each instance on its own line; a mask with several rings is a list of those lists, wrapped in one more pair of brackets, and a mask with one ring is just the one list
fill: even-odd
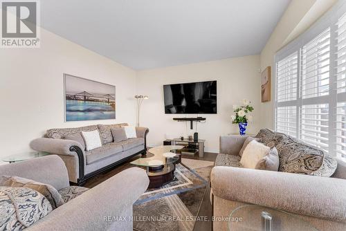
[(253, 55), (138, 71), (137, 93), (149, 95), (149, 100), (142, 104), (140, 116), (140, 125), (150, 129), (148, 144), (161, 145), (165, 137), (186, 136), (186, 126), (189, 135), (194, 133), (190, 131), (190, 123), (172, 120), (174, 117), (185, 115), (165, 114), (163, 84), (180, 82), (217, 80), (217, 114), (199, 115), (207, 118), (205, 124), (198, 124), (199, 138), (206, 139), (206, 151), (218, 152), (219, 136), (238, 132), (237, 126), (230, 122), (230, 115), (233, 112), (233, 104), (240, 104), (244, 98), (251, 100), (255, 107), (254, 122), (249, 124), (248, 132), (257, 133), (260, 128), (259, 68), (260, 56)]

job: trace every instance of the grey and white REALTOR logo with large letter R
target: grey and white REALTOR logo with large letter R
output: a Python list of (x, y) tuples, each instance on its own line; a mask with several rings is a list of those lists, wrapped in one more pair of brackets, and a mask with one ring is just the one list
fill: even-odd
[(1, 48), (39, 47), (37, 1), (1, 1)]

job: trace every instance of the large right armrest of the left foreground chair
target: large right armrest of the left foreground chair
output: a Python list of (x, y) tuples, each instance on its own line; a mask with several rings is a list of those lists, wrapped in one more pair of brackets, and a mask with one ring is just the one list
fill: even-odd
[(53, 210), (27, 230), (125, 230), (113, 228), (112, 221), (124, 218), (132, 222), (131, 217), (124, 217), (128, 216), (125, 211), (132, 209), (148, 185), (149, 178), (143, 169), (126, 169)]

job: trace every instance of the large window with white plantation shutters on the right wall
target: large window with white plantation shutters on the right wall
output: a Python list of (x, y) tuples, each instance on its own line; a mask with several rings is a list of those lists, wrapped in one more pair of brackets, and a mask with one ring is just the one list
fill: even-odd
[(346, 161), (346, 2), (275, 55), (275, 130)]

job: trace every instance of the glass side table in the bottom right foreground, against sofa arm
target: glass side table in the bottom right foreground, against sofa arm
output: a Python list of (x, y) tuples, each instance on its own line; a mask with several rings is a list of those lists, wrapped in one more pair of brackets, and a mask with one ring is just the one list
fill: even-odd
[(230, 213), (229, 231), (318, 231), (295, 214), (260, 205), (243, 205)]

